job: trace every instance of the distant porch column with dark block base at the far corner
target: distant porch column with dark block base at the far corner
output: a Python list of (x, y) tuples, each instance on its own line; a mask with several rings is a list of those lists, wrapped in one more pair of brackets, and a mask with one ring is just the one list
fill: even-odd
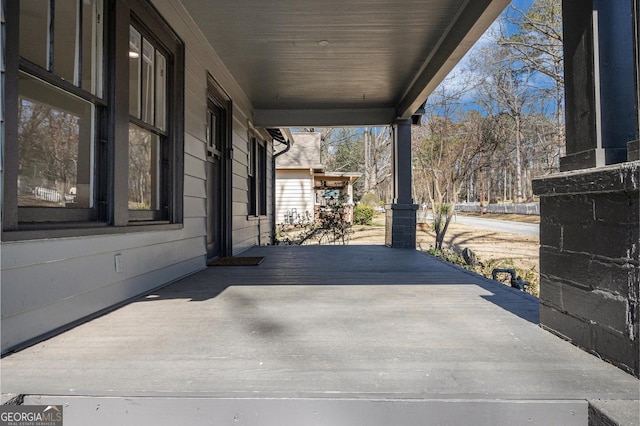
[(398, 120), (393, 127), (393, 203), (387, 205), (385, 244), (416, 248), (416, 211), (411, 187), (411, 124)]

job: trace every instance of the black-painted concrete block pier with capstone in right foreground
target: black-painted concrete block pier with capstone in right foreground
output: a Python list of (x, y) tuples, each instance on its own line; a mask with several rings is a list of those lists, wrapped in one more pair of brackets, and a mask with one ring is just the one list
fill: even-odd
[(640, 376), (640, 161), (533, 181), (542, 327)]

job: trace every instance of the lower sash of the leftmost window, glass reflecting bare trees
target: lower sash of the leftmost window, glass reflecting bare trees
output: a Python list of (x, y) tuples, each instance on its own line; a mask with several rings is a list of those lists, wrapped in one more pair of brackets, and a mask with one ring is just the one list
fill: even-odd
[(93, 207), (95, 104), (18, 78), (18, 206)]

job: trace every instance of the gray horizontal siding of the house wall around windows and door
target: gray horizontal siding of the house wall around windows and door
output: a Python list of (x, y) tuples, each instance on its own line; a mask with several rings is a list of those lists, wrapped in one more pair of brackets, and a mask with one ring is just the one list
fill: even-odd
[[(194, 30), (182, 5), (175, 0), (153, 3), (185, 43), (184, 226), (169, 231), (3, 242), (3, 352), (206, 267), (207, 73), (234, 105), (233, 252), (267, 241), (269, 219), (247, 217), (249, 102)], [(270, 194), (271, 187), (268, 191)], [(115, 270), (116, 254), (122, 256), (121, 273)]]

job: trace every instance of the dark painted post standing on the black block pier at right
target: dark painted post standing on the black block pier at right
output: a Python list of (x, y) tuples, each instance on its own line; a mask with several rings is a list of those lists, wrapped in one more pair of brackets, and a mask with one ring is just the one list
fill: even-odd
[(563, 0), (566, 156), (562, 171), (627, 161), (638, 138), (633, 0)]

